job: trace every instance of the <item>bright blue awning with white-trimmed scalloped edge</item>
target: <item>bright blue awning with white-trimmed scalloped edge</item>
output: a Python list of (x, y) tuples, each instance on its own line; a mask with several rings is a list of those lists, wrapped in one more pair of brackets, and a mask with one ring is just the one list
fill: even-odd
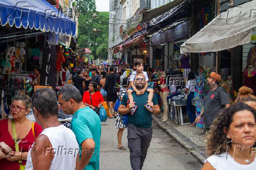
[(16, 28), (45, 29), (46, 32), (72, 35), (76, 23), (45, 0), (1, 0), (0, 22)]

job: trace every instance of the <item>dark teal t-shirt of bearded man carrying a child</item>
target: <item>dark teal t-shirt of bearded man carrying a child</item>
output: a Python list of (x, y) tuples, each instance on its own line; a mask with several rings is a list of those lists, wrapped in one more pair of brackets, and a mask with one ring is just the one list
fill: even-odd
[[(152, 126), (152, 115), (150, 111), (144, 107), (147, 104), (147, 96), (149, 96), (149, 92), (145, 92), (144, 94), (137, 96), (137, 94), (133, 91), (133, 101), (137, 106), (136, 111), (133, 115), (129, 114), (128, 124), (132, 124), (137, 128), (150, 128)], [(157, 105), (157, 97), (154, 95), (152, 100), (154, 105)], [(123, 96), (123, 100), (121, 103), (123, 106), (127, 106), (127, 96)]]

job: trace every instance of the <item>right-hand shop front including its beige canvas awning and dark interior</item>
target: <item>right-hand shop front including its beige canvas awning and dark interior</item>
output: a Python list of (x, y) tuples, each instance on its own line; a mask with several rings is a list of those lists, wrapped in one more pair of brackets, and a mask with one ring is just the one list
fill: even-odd
[[(215, 70), (223, 76), (224, 87), (228, 85), (226, 91), (231, 92), (233, 99), (232, 89), (237, 91), (243, 84), (255, 89), (253, 43), (256, 20), (251, 13), (255, 5), (254, 0), (221, 12), (181, 45), (182, 53), (216, 52)], [(236, 13), (241, 8), (244, 10)]]

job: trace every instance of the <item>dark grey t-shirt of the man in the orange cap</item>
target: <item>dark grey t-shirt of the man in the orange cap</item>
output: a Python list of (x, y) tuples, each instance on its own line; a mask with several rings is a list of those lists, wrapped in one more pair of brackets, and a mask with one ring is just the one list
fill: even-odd
[(209, 91), (204, 101), (204, 124), (207, 128), (213, 124), (214, 118), (220, 113), (230, 100), (225, 90), (218, 86), (214, 91)]

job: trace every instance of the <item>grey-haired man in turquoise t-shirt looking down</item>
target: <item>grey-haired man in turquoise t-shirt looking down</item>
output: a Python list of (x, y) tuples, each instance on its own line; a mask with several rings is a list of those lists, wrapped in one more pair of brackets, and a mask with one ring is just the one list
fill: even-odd
[(86, 107), (78, 89), (66, 84), (58, 91), (60, 108), (73, 114), (70, 129), (75, 133), (80, 148), (76, 169), (98, 170), (100, 159), (101, 124), (99, 116)]

